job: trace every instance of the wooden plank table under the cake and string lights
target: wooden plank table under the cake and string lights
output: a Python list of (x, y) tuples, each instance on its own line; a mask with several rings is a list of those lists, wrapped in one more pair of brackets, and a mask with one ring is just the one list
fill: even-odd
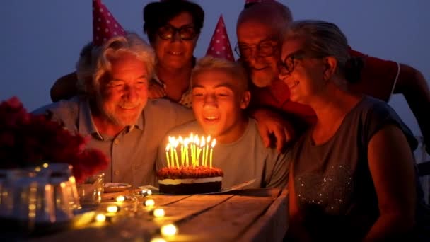
[[(236, 190), (222, 195), (139, 196), (134, 202), (122, 203), (122, 209), (110, 221), (88, 222), (90, 216), (86, 216), (80, 218), (79, 222), (84, 224), (81, 228), (76, 226), (31, 240), (136, 241), (142, 238), (149, 241), (159, 235), (162, 225), (173, 223), (178, 227), (178, 234), (164, 237), (166, 241), (281, 241), (288, 228), (287, 194), (287, 190), (270, 188)], [(105, 194), (98, 210), (114, 204), (113, 197), (117, 195)], [(155, 207), (144, 207), (148, 198), (155, 200)], [(158, 207), (165, 210), (165, 217), (152, 216), (149, 210)], [(94, 217), (95, 212), (91, 213)]]

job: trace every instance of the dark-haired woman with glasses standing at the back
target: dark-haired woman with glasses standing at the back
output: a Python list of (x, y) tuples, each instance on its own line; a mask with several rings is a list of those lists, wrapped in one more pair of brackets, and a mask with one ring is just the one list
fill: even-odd
[(156, 78), (149, 98), (168, 98), (190, 107), (193, 55), (204, 11), (190, 1), (165, 0), (144, 7), (144, 32), (156, 52)]

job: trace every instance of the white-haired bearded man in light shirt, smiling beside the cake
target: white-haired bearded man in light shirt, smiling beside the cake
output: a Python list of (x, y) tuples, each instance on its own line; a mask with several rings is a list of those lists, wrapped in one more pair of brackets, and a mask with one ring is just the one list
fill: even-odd
[[(154, 184), (157, 146), (169, 129), (193, 120), (192, 110), (169, 100), (148, 100), (154, 54), (135, 34), (114, 37), (93, 51), (86, 95), (35, 110), (52, 113), (89, 146), (110, 157), (105, 180), (134, 186)], [(94, 57), (94, 55), (93, 55)]]

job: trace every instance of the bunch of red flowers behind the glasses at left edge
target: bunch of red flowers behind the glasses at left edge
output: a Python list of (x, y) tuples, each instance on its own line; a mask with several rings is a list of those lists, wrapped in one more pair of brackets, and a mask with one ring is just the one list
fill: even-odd
[(28, 113), (13, 97), (0, 103), (0, 168), (69, 163), (76, 182), (108, 167), (108, 157), (88, 149), (88, 137), (72, 134), (50, 115)]

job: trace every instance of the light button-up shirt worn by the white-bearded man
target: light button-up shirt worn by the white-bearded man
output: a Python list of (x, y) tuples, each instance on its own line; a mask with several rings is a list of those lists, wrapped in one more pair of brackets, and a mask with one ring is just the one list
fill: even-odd
[(71, 132), (90, 135), (88, 147), (100, 149), (110, 159), (105, 182), (155, 185), (155, 161), (158, 144), (168, 130), (190, 120), (194, 115), (169, 100), (148, 100), (134, 127), (127, 127), (115, 137), (100, 134), (91, 117), (88, 100), (71, 98), (46, 105), (33, 113), (50, 110), (54, 120), (61, 120)]

